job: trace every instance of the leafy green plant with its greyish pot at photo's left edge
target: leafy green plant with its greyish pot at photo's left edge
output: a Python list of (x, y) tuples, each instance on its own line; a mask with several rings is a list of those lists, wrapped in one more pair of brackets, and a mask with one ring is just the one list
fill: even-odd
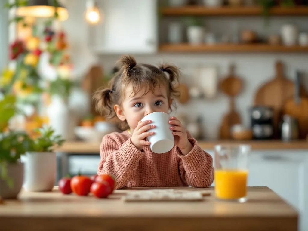
[(20, 157), (31, 144), (30, 137), (23, 132), (8, 129), (9, 120), (18, 110), (16, 97), (5, 95), (0, 101), (0, 197), (16, 199), (22, 188), (24, 165)]

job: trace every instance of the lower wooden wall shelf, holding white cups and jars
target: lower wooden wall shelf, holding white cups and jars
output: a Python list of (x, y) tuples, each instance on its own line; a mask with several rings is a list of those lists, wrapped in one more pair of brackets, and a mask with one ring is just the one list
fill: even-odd
[(180, 44), (161, 44), (159, 52), (308, 52), (308, 46), (282, 46), (269, 45), (263, 43), (255, 44), (201, 44), (190, 45), (188, 43)]

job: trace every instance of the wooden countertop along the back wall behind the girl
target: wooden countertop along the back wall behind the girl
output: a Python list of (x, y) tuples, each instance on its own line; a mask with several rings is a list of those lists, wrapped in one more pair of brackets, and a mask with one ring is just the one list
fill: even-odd
[[(281, 140), (199, 140), (199, 146), (204, 150), (213, 150), (216, 144), (249, 144), (253, 150), (308, 150), (307, 140), (283, 142)], [(65, 142), (57, 152), (66, 153), (99, 153), (100, 143), (88, 143), (83, 141)]]

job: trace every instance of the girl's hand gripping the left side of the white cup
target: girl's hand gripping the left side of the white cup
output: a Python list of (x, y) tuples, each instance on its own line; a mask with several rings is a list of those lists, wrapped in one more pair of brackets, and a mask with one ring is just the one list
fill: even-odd
[(149, 129), (155, 128), (155, 125), (151, 125), (150, 123), (152, 123), (152, 120), (139, 121), (132, 134), (131, 141), (140, 151), (144, 145), (151, 144), (145, 140), (148, 136), (154, 135), (154, 132), (147, 132)]

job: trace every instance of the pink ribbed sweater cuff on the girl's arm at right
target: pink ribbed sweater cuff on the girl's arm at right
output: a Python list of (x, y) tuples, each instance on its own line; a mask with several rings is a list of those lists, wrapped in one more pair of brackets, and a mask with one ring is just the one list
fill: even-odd
[(211, 161), (206, 160), (206, 154), (198, 146), (198, 142), (194, 138), (188, 138), (188, 141), (193, 145), (193, 149), (187, 154), (182, 155), (180, 148), (176, 147), (176, 155), (183, 160), (183, 165), (188, 171), (196, 172), (200, 168), (204, 168), (204, 165), (208, 168), (212, 168)]

